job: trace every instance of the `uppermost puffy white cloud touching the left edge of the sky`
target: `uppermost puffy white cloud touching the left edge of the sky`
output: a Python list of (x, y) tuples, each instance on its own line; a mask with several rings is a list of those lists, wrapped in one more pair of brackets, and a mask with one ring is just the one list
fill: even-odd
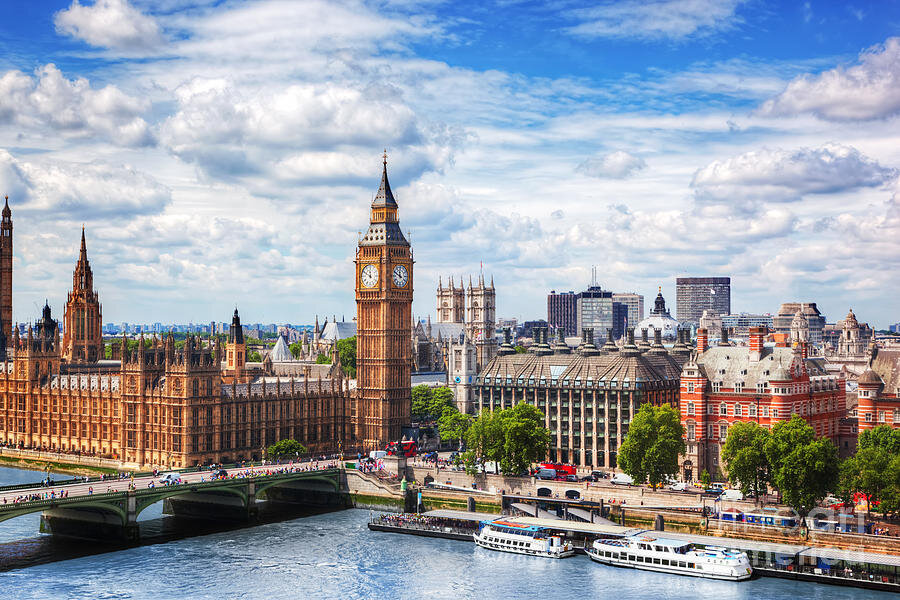
[(0, 76), (0, 123), (50, 128), (66, 137), (103, 137), (123, 146), (143, 146), (153, 137), (140, 116), (149, 108), (141, 98), (114, 85), (91, 88), (87, 79), (67, 79), (53, 64)]

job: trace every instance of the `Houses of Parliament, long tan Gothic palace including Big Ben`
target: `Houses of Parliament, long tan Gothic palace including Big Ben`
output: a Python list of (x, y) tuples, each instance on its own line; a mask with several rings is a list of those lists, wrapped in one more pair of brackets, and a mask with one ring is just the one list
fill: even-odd
[(281, 439), (312, 452), (376, 448), (410, 422), (413, 258), (387, 176), (356, 251), (357, 382), (258, 375), (247, 367), (235, 309), (224, 343), (141, 337), (105, 360), (102, 307), (84, 230), (63, 315), (49, 305), (12, 323), (12, 211), (0, 223), (0, 443), (92, 454), (128, 465), (186, 467), (258, 459)]

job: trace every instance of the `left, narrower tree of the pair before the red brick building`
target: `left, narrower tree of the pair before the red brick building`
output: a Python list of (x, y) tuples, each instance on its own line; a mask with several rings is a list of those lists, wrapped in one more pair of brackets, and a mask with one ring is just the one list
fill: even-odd
[(744, 494), (757, 498), (765, 492), (769, 482), (769, 460), (766, 445), (769, 430), (753, 421), (738, 422), (728, 429), (722, 448), (722, 460), (728, 469), (728, 480)]

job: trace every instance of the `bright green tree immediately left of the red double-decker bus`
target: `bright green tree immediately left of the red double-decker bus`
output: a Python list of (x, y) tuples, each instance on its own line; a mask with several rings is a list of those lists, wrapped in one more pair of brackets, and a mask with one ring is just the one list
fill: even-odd
[(501, 410), (495, 418), (500, 420), (503, 435), (499, 463), (504, 475), (520, 475), (547, 455), (550, 432), (536, 406), (520, 402)]

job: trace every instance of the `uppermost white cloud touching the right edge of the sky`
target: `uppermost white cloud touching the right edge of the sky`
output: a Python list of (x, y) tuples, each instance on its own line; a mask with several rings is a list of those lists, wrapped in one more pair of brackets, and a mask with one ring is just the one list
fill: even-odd
[(869, 48), (859, 64), (802, 75), (766, 101), (766, 116), (803, 113), (833, 121), (883, 119), (900, 112), (900, 38)]

